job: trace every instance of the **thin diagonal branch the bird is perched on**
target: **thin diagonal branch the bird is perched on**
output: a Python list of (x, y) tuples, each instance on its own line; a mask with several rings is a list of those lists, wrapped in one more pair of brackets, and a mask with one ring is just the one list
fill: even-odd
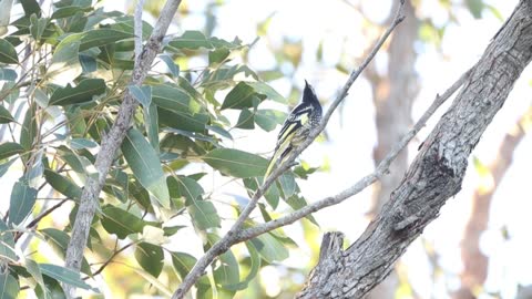
[(211, 262), (214, 261), (214, 259), (222, 255), (223, 252), (227, 251), (232, 245), (238, 243), (238, 234), (243, 228), (244, 221), (249, 217), (252, 212), (255, 209), (257, 206), (258, 199), (263, 196), (263, 194), (269, 188), (269, 186), (279, 177), (284, 172), (286, 172), (293, 164), (293, 162), (296, 159), (299, 154), (307, 148), (314, 140), (325, 130), (327, 126), (327, 123), (335, 112), (335, 110), (338, 107), (338, 105), (346, 99), (349, 89), (351, 87), (352, 83), (360, 75), (360, 73), (366, 69), (366, 66), (369, 64), (369, 62), (374, 59), (374, 56), (377, 54), (379, 49), (382, 47), (385, 41), (388, 39), (388, 37), (391, 34), (391, 32), (396, 29), (396, 27), (405, 19), (402, 14), (402, 8), (405, 6), (405, 0), (399, 0), (400, 4), (398, 6), (397, 12), (393, 18), (393, 22), (390, 24), (390, 27), (386, 30), (385, 34), (380, 38), (380, 40), (374, 45), (372, 51), (369, 53), (369, 55), (364, 60), (362, 64), (355, 71), (351, 72), (349, 75), (346, 84), (344, 87), (340, 90), (339, 95), (336, 97), (336, 100), (330, 104), (327, 113), (325, 113), (324, 118), (321, 121), (321, 124), (313, 132), (310, 132), (308, 138), (298, 147), (296, 147), (293, 153), (288, 156), (285, 163), (283, 163), (277, 169), (275, 169), (272, 175), (264, 182), (264, 184), (257, 189), (257, 192), (254, 194), (252, 200), (247, 204), (247, 206), (244, 208), (242, 214), (238, 216), (238, 219), (233, 224), (231, 227), (229, 231), (219, 239), (216, 244), (214, 244), (197, 261), (196, 265), (194, 265), (194, 268), (188, 272), (188, 275), (183, 279), (183, 282), (181, 286), (177, 288), (177, 290), (173, 293), (172, 299), (177, 299), (177, 298), (184, 298), (186, 292), (192, 288), (192, 286), (200, 279), (200, 277), (205, 272), (205, 269), (211, 265)]

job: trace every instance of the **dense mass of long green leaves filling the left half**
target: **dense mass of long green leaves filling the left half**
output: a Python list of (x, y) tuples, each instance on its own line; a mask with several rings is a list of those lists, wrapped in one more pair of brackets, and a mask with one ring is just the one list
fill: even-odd
[[(181, 229), (190, 227), (207, 249), (222, 234), (219, 205), (229, 204), (235, 216), (241, 209), (236, 200), (213, 200), (204, 173), (184, 174), (197, 166), (218, 172), (242, 181), (252, 194), (267, 159), (232, 148), (232, 130), (274, 130), (284, 115), (264, 103), (285, 99), (249, 66), (233, 62), (249, 44), (200, 31), (165, 42), (158, 55), (164, 70), (150, 72), (143, 86), (131, 86), (132, 17), (94, 9), (86, 0), (58, 1), (50, 13), (34, 0), (20, 2), (24, 14), (0, 39), (0, 175), (20, 176), (0, 220), (0, 268), (6, 268), (0, 285), (9, 286), (0, 297), (14, 298), (30, 285), (39, 298), (64, 297), (60, 283), (99, 292), (91, 278), (109, 262), (98, 262), (112, 261), (130, 247), (144, 283), (167, 295), (178, 281), (164, 285), (157, 277), (183, 278), (196, 260), (166, 248), (167, 238), (182, 241)], [(151, 31), (144, 23), (144, 40)], [(184, 69), (193, 56), (208, 65)], [(64, 258), (83, 184), (96, 175), (94, 155), (125, 92), (141, 105), (100, 196), (82, 274), (39, 252), (18, 255), (21, 246), (25, 255), (44, 245)], [(280, 199), (295, 209), (306, 205), (296, 177), (308, 174), (299, 173), (284, 175), (265, 196), (264, 220), (273, 218)], [(59, 206), (70, 212), (70, 224), (62, 228), (50, 219)], [(177, 226), (175, 219), (187, 225)], [(30, 248), (21, 245), (25, 238)], [(278, 230), (246, 241), (244, 254), (227, 251), (214, 264), (211, 279), (196, 283), (198, 296), (234, 296), (262, 266), (287, 258), (290, 246)]]

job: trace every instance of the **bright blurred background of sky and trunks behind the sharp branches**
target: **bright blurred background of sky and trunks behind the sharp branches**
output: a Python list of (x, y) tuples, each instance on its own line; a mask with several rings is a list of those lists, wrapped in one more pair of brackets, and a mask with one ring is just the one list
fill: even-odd
[[(153, 24), (163, 2), (146, 0), (143, 20)], [(305, 163), (319, 167), (299, 182), (305, 198), (313, 202), (335, 195), (371, 173), (436, 95), (480, 59), (516, 3), (407, 0), (407, 19), (356, 81), (326, 132), (303, 154)], [(288, 112), (300, 100), (307, 80), (327, 109), (349, 72), (391, 22), (396, 4), (391, 0), (185, 0), (168, 34), (200, 30), (226, 40), (255, 41), (235, 60), (246, 62), (289, 103), (269, 105)], [(98, 6), (133, 13), (135, 1), (104, 0)], [(191, 72), (207, 64), (204, 56), (183, 58), (177, 63)], [(532, 298), (532, 185), (528, 184), (532, 138), (526, 134), (532, 121), (531, 79), (528, 68), (473, 152), (462, 190), (368, 298)], [(323, 234), (339, 230), (348, 244), (357, 239), (450, 103), (438, 111), (380, 183), (315, 214), (319, 227), (307, 220), (286, 227), (297, 244), (289, 258), (262, 268), (257, 279), (235, 298), (293, 298), (316, 265)], [(269, 156), (277, 130), (235, 128), (233, 146)], [(213, 197), (221, 210), (225, 200), (247, 196), (242, 187), (223, 184), (222, 177), (212, 175), (212, 189), (204, 188), (217, 195)], [(170, 246), (201, 256), (202, 244), (195, 234), (192, 228), (183, 229)], [(127, 262), (135, 261), (124, 256), (122, 264)], [(145, 287), (131, 287), (144, 279), (135, 279), (122, 264), (109, 266), (103, 274), (104, 297), (145, 297)]]

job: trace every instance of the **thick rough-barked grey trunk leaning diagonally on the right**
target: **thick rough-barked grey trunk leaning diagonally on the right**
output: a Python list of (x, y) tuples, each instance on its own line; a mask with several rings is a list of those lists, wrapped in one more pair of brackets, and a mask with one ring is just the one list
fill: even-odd
[(390, 272), (408, 245), (460, 190), (471, 151), (531, 56), (532, 0), (521, 0), (390, 200), (332, 268), (313, 271), (299, 298), (361, 298)]

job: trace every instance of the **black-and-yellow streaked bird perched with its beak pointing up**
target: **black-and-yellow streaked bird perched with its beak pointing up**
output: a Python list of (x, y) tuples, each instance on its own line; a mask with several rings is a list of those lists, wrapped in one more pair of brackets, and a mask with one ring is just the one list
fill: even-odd
[(290, 112), (288, 117), (286, 117), (279, 135), (277, 135), (277, 145), (275, 146), (274, 155), (269, 161), (264, 179), (268, 178), (277, 161), (283, 162), (294, 147), (305, 142), (310, 131), (317, 127), (320, 121), (321, 105), (313, 86), (305, 80), (303, 101)]

